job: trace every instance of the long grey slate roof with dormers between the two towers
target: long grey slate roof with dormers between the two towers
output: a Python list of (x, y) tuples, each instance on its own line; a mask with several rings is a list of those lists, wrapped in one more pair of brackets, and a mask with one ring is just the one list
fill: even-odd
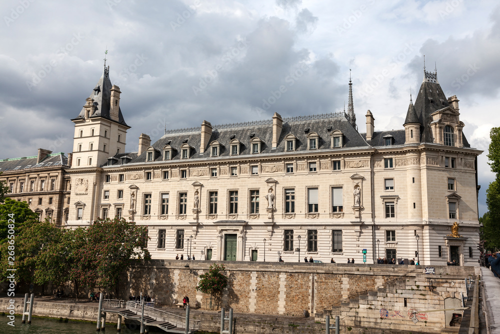
[[(309, 128), (308, 132), (305, 129)], [(328, 128), (330, 130), (328, 130)], [(258, 138), (261, 141), (260, 154), (285, 152), (284, 138), (291, 134), (296, 137), (295, 152), (307, 151), (307, 135), (316, 133), (318, 135), (318, 149), (330, 149), (330, 133), (340, 131), (343, 134), (343, 148), (369, 147), (363, 137), (349, 123), (344, 113), (310, 115), (302, 117), (290, 117), (283, 119), (281, 134), (278, 145), (275, 150), (272, 147), (272, 120), (248, 122), (244, 124), (227, 124), (213, 126), (208, 145), (203, 152), (199, 154), (201, 142), (201, 132), (199, 128), (187, 129), (187, 131), (175, 131), (167, 133), (151, 146), (157, 150), (155, 161), (161, 161), (162, 150), (166, 144), (169, 144), (172, 151), (171, 160), (180, 160), (180, 146), (187, 139), (186, 143), (191, 147), (190, 158), (209, 158), (209, 144), (217, 141), (220, 144), (219, 157), (230, 156), (230, 142), (237, 139), (240, 144), (239, 156), (250, 155), (250, 140)], [(253, 134), (253, 135), (252, 135)], [(250, 137), (252, 135), (252, 137)], [(131, 163), (145, 162), (146, 152), (132, 159)]]

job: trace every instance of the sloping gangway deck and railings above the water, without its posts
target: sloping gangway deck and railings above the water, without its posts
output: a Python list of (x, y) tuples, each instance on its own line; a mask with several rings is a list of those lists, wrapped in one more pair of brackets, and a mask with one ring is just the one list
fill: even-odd
[[(117, 313), (126, 319), (140, 322), (141, 304), (139, 301), (127, 301), (124, 304), (123, 300), (104, 299), (102, 312)], [(188, 333), (198, 330), (200, 322), (189, 319)], [(185, 333), (185, 317), (151, 306), (144, 306), (144, 324), (158, 327), (168, 333)]]

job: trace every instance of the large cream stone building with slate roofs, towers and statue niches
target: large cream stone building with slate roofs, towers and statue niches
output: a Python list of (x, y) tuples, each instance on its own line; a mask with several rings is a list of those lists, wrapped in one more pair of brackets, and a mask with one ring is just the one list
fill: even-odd
[(477, 265), (481, 151), (435, 72), (424, 70), (400, 130), (374, 131), (368, 110), (359, 133), (349, 80), (347, 113), (202, 121), (155, 143), (142, 134), (133, 153), (119, 96), (105, 68), (72, 120), (68, 226), (132, 219), (156, 259)]

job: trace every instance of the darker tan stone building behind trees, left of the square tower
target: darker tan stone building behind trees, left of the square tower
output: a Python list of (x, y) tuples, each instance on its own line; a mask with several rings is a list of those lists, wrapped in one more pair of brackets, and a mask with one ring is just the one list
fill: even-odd
[(40, 221), (63, 225), (69, 211), (69, 165), (64, 153), (40, 148), (34, 156), (0, 160), (0, 182), (8, 187), (6, 196), (27, 202)]

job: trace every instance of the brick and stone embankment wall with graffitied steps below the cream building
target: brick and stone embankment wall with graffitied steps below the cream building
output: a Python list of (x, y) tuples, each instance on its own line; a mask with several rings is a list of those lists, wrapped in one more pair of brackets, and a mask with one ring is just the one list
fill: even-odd
[[(186, 263), (189, 269), (184, 267)], [(130, 290), (123, 292), (146, 293), (162, 304), (179, 302), (187, 295), (191, 304), (197, 301), (203, 309), (208, 296), (195, 287), (199, 275), (212, 263), (154, 260), (136, 265), (127, 275)], [(307, 310), (319, 320), (332, 312), (346, 316), (346, 326), (408, 330), (416, 325), (419, 331), (428, 332), (440, 332), (448, 326), (451, 314), (445, 315), (443, 309), (459, 307), (456, 300), (460, 292), (465, 293), (463, 280), (474, 275), (473, 267), (460, 266), (223, 264), (229, 284), (221, 305), (232, 307), (235, 313), (303, 316)], [(426, 274), (426, 270), (434, 273)], [(419, 320), (416, 324), (415, 316)]]

